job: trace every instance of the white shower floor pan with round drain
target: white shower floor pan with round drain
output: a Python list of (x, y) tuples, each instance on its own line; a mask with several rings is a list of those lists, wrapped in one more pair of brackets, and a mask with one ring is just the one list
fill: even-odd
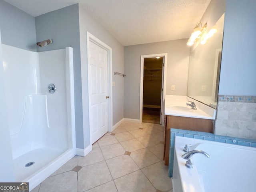
[[(52, 162), (64, 151), (52, 148), (38, 148), (14, 159), (14, 172), (16, 182), (26, 182), (25, 179)], [(34, 162), (26, 167), (29, 162)]]

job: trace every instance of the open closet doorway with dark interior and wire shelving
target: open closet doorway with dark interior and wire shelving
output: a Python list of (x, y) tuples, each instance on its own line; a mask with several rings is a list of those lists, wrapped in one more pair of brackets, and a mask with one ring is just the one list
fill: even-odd
[[(164, 55), (141, 58), (140, 122), (163, 124)], [(142, 68), (143, 67), (143, 68)]]

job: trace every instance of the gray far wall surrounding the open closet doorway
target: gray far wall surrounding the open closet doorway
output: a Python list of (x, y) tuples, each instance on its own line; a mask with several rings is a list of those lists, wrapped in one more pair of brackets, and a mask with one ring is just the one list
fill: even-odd
[[(140, 118), (140, 56), (167, 53), (167, 95), (187, 95), (188, 39), (140, 44), (124, 47), (124, 117)], [(175, 90), (171, 90), (175, 85)]]

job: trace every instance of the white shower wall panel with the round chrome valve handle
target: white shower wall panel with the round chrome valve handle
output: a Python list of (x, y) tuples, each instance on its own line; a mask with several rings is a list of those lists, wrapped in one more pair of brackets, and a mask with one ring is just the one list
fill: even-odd
[[(47, 95), (48, 122), (53, 134), (49, 134), (48, 144), (58, 149), (68, 148), (72, 142), (70, 122), (70, 76), (66, 64), (66, 50), (38, 52), (40, 66), (40, 87)], [(48, 94), (48, 85), (56, 86), (54, 94)], [(65, 138), (65, 140), (63, 140)]]

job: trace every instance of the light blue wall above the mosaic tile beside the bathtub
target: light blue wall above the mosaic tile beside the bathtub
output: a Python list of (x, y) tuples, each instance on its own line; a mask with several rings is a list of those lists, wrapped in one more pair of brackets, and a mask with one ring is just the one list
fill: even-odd
[(227, 0), (220, 95), (256, 96), (255, 10), (255, 0)]

